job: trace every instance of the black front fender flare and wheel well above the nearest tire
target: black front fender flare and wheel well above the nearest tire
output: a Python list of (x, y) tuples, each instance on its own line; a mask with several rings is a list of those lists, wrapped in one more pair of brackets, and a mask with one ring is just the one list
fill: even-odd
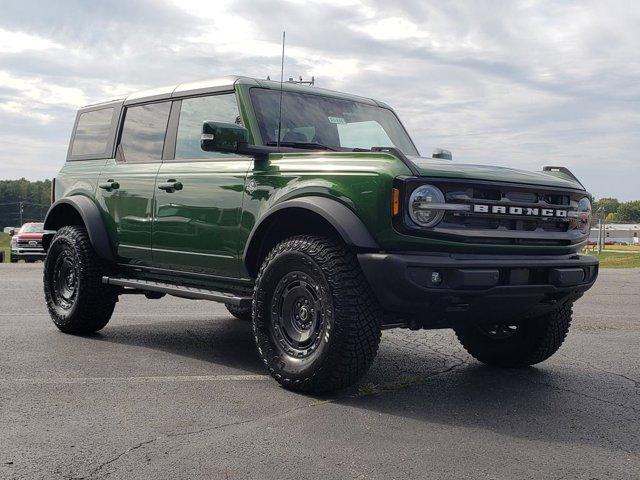
[(325, 197), (303, 197), (273, 206), (256, 222), (247, 240), (243, 260), (251, 277), (278, 242), (293, 235), (331, 233), (352, 247), (380, 250), (362, 220), (346, 205)]

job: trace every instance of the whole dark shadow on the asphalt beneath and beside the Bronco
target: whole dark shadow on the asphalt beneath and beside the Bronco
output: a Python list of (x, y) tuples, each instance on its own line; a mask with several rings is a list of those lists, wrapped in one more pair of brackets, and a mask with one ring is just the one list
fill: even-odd
[[(250, 325), (231, 318), (113, 325), (93, 338), (265, 374)], [(271, 388), (281, 389), (275, 381)], [(419, 421), (421, 428), (482, 429), (634, 454), (640, 452), (635, 395), (633, 385), (615, 376), (557, 360), (527, 369), (482, 366), (448, 331), (394, 331), (385, 333), (376, 361), (358, 385), (308, 398), (312, 404)]]

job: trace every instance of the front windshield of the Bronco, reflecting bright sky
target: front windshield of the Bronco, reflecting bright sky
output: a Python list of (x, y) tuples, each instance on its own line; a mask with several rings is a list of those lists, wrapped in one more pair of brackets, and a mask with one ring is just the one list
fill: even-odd
[[(280, 91), (252, 88), (262, 142), (278, 140)], [(309, 93), (282, 93), (283, 144), (317, 144), (331, 148), (395, 147), (405, 155), (418, 155), (395, 114), (366, 103)]]

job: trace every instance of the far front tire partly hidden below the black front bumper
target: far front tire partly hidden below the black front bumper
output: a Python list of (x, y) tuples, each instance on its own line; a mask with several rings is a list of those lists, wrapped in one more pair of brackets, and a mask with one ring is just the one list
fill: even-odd
[(507, 338), (491, 338), (479, 326), (456, 329), (465, 350), (476, 360), (497, 367), (527, 367), (556, 353), (571, 325), (573, 303), (546, 315), (524, 320)]

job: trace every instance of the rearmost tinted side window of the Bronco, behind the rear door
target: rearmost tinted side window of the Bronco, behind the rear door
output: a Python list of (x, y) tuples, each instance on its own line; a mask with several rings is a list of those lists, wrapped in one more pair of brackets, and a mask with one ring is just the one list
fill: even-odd
[(113, 107), (80, 114), (73, 138), (71, 155), (101, 155), (106, 153), (112, 135)]

